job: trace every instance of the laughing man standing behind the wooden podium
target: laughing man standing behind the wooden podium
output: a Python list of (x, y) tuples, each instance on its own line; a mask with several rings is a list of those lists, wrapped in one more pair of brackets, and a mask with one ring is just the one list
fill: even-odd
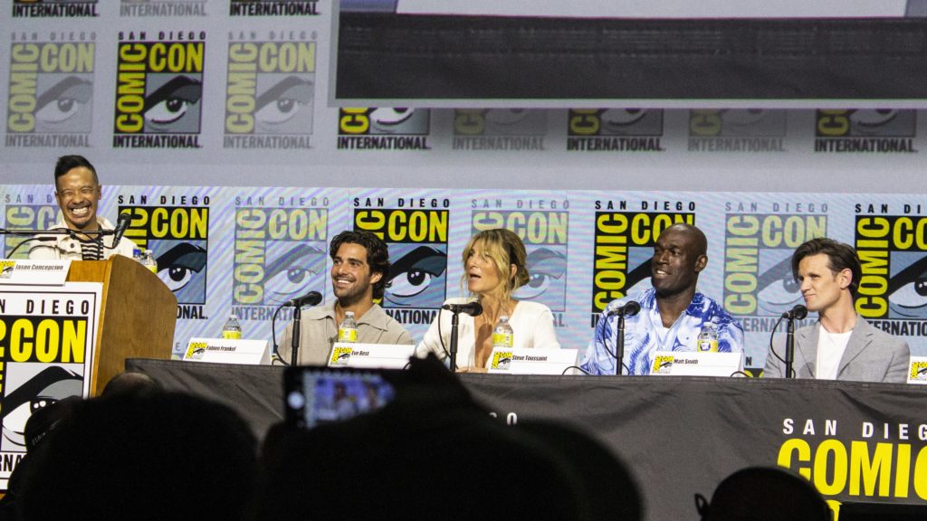
[[(55, 199), (61, 217), (52, 226), (57, 230), (72, 230), (70, 235), (41, 235), (32, 243), (29, 258), (100, 261), (113, 254), (132, 257), (137, 248), (132, 240), (117, 232), (111, 236), (86, 234), (113, 230), (112, 222), (96, 215), (102, 194), (96, 169), (83, 156), (62, 156), (55, 165)], [(127, 226), (128, 223), (125, 224)], [(121, 232), (125, 232), (124, 229)]]

